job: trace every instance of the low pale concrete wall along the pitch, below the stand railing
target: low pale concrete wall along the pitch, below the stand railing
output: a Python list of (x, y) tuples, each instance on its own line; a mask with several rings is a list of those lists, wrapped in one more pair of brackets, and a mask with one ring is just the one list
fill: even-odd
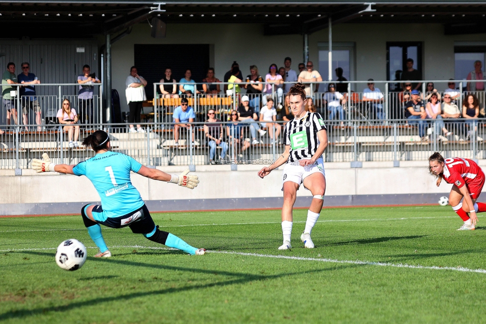
[[(486, 166), (486, 160), (480, 165)], [(362, 168), (351, 168), (349, 162), (326, 163), (325, 205), (435, 203), (439, 196), (447, 195), (451, 185), (443, 181), (437, 187), (426, 166), (427, 162), (400, 162), (400, 167), (393, 167), (392, 162), (364, 162)], [(238, 167), (231, 171), (229, 165), (197, 166), (194, 173), (201, 182), (194, 190), (138, 174), (131, 178), (153, 211), (281, 207), (282, 168), (260, 179), (256, 173), (261, 165)], [(185, 167), (161, 169), (179, 173)], [(21, 176), (12, 173), (1, 170), (0, 215), (79, 213), (84, 203), (100, 200), (84, 176), (32, 170), (23, 170)], [(311, 196), (302, 187), (297, 205), (308, 206)]]

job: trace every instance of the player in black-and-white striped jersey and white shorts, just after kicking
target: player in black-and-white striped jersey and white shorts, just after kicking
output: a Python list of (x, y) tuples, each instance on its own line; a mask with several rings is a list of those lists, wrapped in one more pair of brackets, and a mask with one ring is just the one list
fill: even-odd
[(288, 250), (292, 247), (290, 244), (292, 209), (297, 190), (302, 183), (312, 192), (313, 199), (307, 211), (307, 221), (300, 239), (304, 242), (304, 247), (314, 248), (310, 234), (319, 218), (326, 191), (322, 160), (322, 154), (328, 144), (326, 126), (321, 115), (305, 111), (306, 93), (304, 88), (302, 83), (297, 83), (288, 92), (290, 110), (294, 119), (285, 125), (283, 137), (285, 151), (273, 164), (258, 171), (258, 176), (263, 178), (273, 169), (287, 163), (283, 169), (283, 244), (278, 248), (279, 250)]

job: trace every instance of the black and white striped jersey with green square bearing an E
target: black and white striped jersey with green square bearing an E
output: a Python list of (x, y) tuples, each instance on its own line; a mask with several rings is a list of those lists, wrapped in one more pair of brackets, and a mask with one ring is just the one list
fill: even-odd
[(311, 159), (319, 146), (317, 132), (327, 130), (319, 113), (307, 112), (300, 119), (292, 119), (285, 125), (285, 145), (290, 145), (290, 155), (287, 162)]

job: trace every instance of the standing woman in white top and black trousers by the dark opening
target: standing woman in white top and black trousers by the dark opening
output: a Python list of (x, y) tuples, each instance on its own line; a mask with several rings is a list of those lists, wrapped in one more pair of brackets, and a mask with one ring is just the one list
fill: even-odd
[(139, 76), (135, 66), (130, 68), (130, 75), (126, 77), (125, 81), (125, 97), (126, 103), (130, 110), (128, 115), (128, 123), (130, 125), (130, 133), (145, 133), (140, 124), (137, 124), (137, 130), (133, 128), (133, 123), (140, 123), (140, 113), (142, 112), (142, 102), (147, 100), (145, 95), (145, 87), (147, 80)]

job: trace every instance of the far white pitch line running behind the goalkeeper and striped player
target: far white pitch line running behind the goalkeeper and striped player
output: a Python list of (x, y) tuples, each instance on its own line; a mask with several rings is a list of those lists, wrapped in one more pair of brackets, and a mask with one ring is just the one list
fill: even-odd
[[(478, 216), (482, 217), (482, 216)], [(400, 217), (400, 218), (369, 218), (369, 219), (326, 219), (318, 220), (318, 223), (328, 222), (367, 222), (367, 221), (385, 221), (385, 220), (409, 220), (409, 219), (435, 219), (435, 218), (457, 218), (457, 216), (441, 216), (441, 217)], [(260, 225), (260, 224), (280, 224), (281, 222), (247, 222), (247, 223), (213, 223), (213, 224), (190, 224), (190, 225), (159, 225), (160, 228), (168, 227), (194, 227), (194, 226), (228, 226), (228, 225)], [(294, 221), (294, 223), (305, 223), (305, 220)], [(105, 229), (113, 229), (111, 227), (103, 227)], [(49, 231), (79, 231), (84, 228), (73, 229), (26, 229), (26, 230), (13, 230), (13, 231), (0, 231), (0, 233), (13, 233), (13, 232), (49, 232)]]

